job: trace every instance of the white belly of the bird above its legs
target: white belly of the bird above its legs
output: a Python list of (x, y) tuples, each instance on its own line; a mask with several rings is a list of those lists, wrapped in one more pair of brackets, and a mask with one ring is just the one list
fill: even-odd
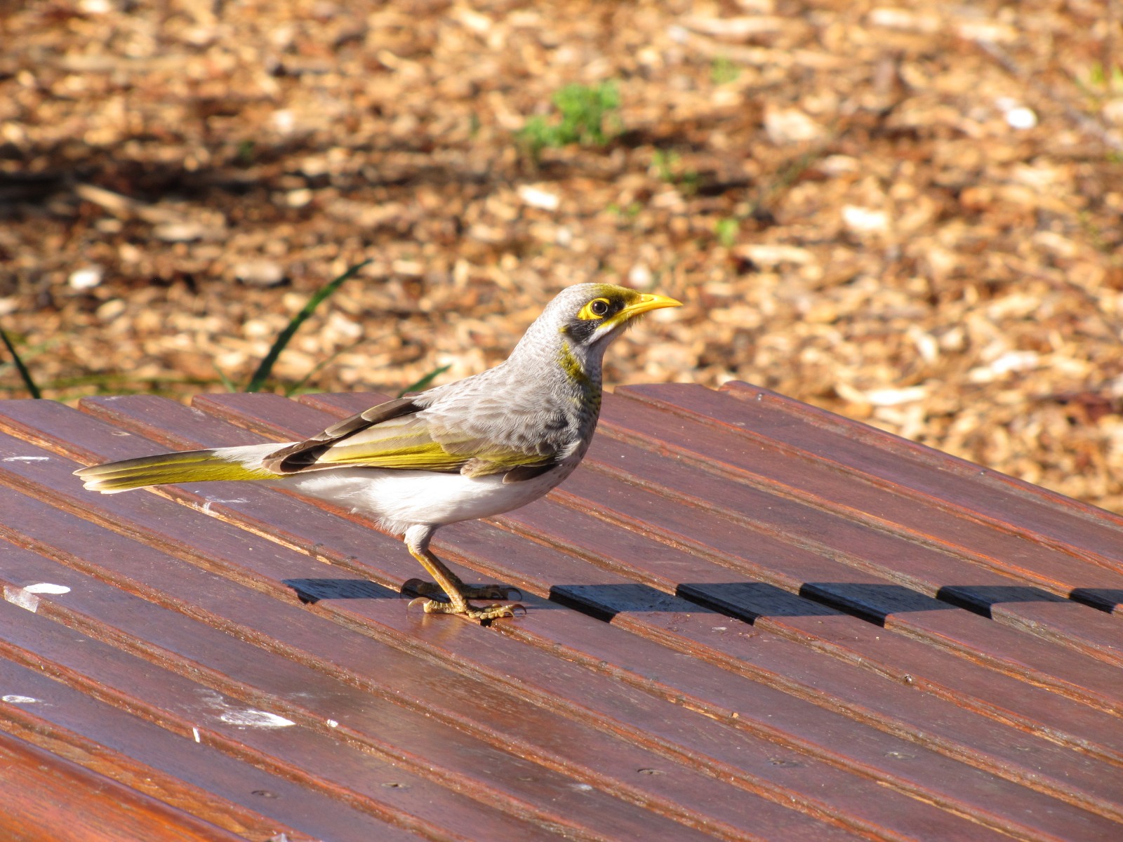
[(521, 483), (503, 483), (502, 474), (467, 477), (427, 470), (336, 468), (310, 470), (276, 485), (327, 500), (377, 520), (390, 532), (413, 524), (441, 525), (509, 512), (538, 500), (565, 479), (576, 465), (559, 465)]

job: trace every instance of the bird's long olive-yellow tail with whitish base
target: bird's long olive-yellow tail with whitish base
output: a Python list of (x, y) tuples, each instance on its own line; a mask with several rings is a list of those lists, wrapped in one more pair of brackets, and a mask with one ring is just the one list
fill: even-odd
[(284, 443), (223, 447), (214, 450), (186, 450), (91, 465), (74, 472), (89, 491), (117, 494), (130, 488), (167, 483), (203, 483), (217, 479), (276, 479), (262, 467), (262, 459)]

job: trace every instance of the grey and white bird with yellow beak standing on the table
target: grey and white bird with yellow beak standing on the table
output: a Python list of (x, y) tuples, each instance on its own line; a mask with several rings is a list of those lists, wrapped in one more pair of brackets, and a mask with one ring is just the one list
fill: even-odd
[[(291, 488), (404, 533), (436, 579), (419, 583), (429, 614), (513, 615), (513, 588), (468, 587), (429, 550), (438, 527), (538, 500), (577, 467), (601, 411), (601, 360), (646, 312), (681, 306), (611, 284), (563, 290), (500, 365), (408, 394), (332, 424), (307, 441), (143, 456), (81, 468), (90, 491), (116, 494), (168, 483), (252, 479)], [(435, 598), (444, 592), (448, 602)]]

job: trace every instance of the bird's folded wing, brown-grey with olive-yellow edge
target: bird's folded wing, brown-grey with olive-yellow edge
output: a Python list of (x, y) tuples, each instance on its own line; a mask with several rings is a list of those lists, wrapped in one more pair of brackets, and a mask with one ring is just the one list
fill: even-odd
[(263, 464), (277, 474), (390, 468), (467, 476), (505, 473), (509, 482), (528, 479), (554, 466), (553, 450), (493, 441), (467, 429), (457, 430), (447, 420), (419, 414), (422, 410), (424, 406), (411, 397), (387, 401), (271, 454)]

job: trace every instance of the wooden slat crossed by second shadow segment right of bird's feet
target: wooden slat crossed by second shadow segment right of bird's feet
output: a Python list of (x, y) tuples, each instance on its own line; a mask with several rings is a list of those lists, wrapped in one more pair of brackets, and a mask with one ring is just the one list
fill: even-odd
[[(560, 497), (562, 495), (557, 495)], [(579, 497), (575, 497), (578, 501)], [(528, 506), (502, 519), (503, 525), (599, 568), (669, 594), (678, 594), (732, 617), (754, 623), (800, 646), (870, 670), (892, 681), (934, 694), (995, 722), (1050, 739), (1123, 765), (1123, 729), (1117, 716), (974, 660), (879, 626), (759, 582), (730, 582), (729, 570), (641, 534), (617, 540), (619, 528), (554, 501)], [(603, 578), (603, 577), (602, 577)], [(554, 586), (574, 602), (594, 602), (600, 585)]]

